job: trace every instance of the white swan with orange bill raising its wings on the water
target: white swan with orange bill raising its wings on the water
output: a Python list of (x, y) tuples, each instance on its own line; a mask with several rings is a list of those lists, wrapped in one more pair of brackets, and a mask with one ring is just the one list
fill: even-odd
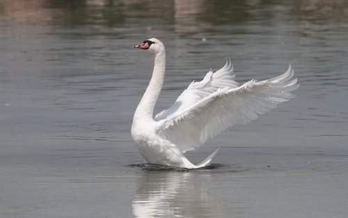
[(230, 61), (216, 72), (209, 71), (202, 81), (193, 81), (168, 109), (153, 118), (166, 70), (166, 51), (157, 38), (145, 40), (136, 48), (155, 54), (150, 84), (134, 113), (132, 137), (141, 155), (150, 164), (196, 169), (210, 164), (214, 153), (200, 164), (192, 164), (183, 153), (194, 150), (228, 127), (249, 123), (294, 97), (299, 87), (292, 79), (291, 65), (279, 77), (251, 80), (239, 86)]

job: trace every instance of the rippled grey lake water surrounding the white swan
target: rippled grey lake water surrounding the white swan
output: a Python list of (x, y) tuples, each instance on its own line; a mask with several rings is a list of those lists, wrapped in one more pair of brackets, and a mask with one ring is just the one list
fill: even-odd
[[(1, 1), (1, 217), (347, 217), (345, 1)], [(289, 63), (297, 98), (189, 153), (144, 164), (130, 137), (156, 36), (168, 107), (230, 56), (238, 81)]]

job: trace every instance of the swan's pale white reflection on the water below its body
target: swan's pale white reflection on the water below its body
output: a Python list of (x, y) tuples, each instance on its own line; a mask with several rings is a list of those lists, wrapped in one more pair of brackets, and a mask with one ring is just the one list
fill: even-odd
[[(207, 175), (205, 175), (207, 176)], [(191, 172), (148, 171), (137, 182), (134, 217), (212, 217), (214, 207), (207, 189)]]

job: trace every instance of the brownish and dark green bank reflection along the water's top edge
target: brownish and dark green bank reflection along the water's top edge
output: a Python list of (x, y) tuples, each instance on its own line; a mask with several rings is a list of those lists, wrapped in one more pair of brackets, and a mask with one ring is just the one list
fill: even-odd
[[(289, 12), (286, 9), (290, 9)], [(115, 26), (132, 18), (145, 18), (149, 26), (177, 33), (196, 33), (206, 24), (240, 24), (270, 20), (292, 13), (299, 20), (347, 19), (345, 0), (219, 1), (219, 0), (3, 0), (0, 15), (19, 24), (100, 24)]]

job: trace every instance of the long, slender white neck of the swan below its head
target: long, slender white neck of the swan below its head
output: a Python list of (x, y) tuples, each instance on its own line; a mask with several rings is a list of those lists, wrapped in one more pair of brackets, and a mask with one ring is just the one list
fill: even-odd
[(161, 92), (166, 71), (166, 52), (161, 51), (155, 54), (155, 65), (152, 72), (150, 84), (141, 98), (141, 101), (134, 113), (135, 120), (153, 120), (153, 110)]

